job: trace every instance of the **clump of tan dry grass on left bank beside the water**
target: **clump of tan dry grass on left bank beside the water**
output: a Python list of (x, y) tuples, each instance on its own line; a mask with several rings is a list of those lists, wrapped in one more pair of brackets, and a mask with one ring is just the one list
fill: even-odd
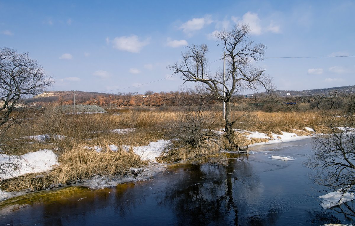
[(79, 145), (62, 153), (58, 158), (60, 166), (52, 171), (28, 173), (7, 179), (1, 182), (0, 187), (8, 192), (24, 189), (40, 190), (50, 185), (69, 184), (95, 175), (124, 175), (130, 172), (130, 168), (142, 167), (146, 164), (132, 150), (111, 151), (107, 144), (102, 147), (104, 151), (96, 152)]

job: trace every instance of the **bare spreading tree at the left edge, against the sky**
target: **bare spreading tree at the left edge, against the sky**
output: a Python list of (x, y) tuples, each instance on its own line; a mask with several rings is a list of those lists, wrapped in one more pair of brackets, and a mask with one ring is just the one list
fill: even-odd
[(6, 131), (16, 124), (10, 118), (17, 111), (20, 98), (31, 97), (43, 92), (52, 83), (37, 60), (29, 58), (28, 53), (18, 53), (6, 47), (0, 48), (0, 128)]

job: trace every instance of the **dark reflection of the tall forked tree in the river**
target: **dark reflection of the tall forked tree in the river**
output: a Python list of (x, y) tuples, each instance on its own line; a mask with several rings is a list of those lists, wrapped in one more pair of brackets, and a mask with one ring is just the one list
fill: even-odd
[[(226, 167), (203, 164), (192, 166), (191, 171), (180, 182), (180, 189), (167, 193), (159, 203), (174, 209), (178, 225), (275, 224), (277, 209), (270, 209), (265, 216), (245, 214), (250, 203), (243, 203), (240, 197), (257, 199), (261, 186), (249, 163), (231, 159)], [(199, 178), (204, 182), (195, 184)]]

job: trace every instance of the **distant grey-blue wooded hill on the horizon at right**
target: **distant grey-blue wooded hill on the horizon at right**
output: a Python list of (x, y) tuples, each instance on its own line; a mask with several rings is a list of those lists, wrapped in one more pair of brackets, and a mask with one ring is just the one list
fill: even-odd
[[(280, 97), (286, 97), (286, 96), (310, 96), (313, 93), (319, 93), (319, 92), (332, 92), (332, 91), (338, 91), (338, 92), (347, 92), (350, 90), (355, 89), (355, 86), (340, 86), (340, 87), (332, 87), (332, 88), (322, 88), (322, 89), (313, 89), (313, 90), (275, 90), (272, 93), (277, 94)], [(287, 95), (287, 93), (290, 93), (290, 95)], [(250, 95), (260, 95), (262, 93), (253, 93)], [(266, 94), (263, 92), (263, 94)]]

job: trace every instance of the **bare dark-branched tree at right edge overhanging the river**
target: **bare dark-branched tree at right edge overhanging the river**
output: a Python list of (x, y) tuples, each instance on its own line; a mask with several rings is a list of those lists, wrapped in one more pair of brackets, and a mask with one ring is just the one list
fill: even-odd
[[(343, 96), (349, 105), (355, 103), (354, 97), (354, 92)], [(331, 132), (315, 139), (315, 154), (310, 156), (306, 166), (314, 169), (313, 180), (325, 186), (326, 190), (338, 190), (343, 194), (348, 191), (355, 192), (354, 111), (345, 107), (340, 115), (331, 111), (325, 111), (323, 115)]]

